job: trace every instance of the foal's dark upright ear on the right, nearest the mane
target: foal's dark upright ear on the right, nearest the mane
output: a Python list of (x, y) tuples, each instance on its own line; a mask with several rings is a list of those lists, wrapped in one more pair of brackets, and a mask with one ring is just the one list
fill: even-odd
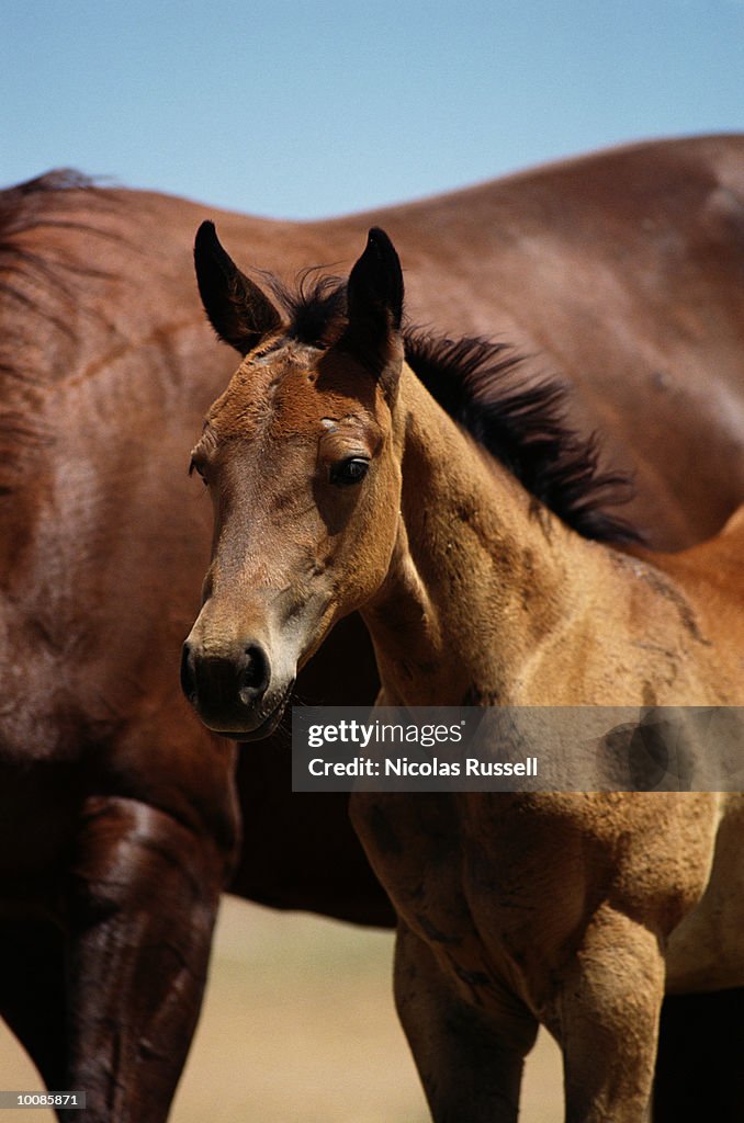
[(402, 358), (403, 274), (393, 244), (378, 227), (370, 230), (366, 248), (350, 273), (346, 302), (348, 325), (336, 346), (391, 389)]

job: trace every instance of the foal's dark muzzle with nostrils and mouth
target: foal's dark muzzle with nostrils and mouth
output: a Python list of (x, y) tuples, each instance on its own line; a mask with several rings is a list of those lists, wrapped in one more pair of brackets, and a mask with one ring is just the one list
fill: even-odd
[(205, 725), (234, 737), (271, 732), (283, 705), (265, 713), (262, 703), (271, 684), (264, 647), (249, 642), (234, 655), (206, 654), (190, 639), (183, 645), (181, 688)]

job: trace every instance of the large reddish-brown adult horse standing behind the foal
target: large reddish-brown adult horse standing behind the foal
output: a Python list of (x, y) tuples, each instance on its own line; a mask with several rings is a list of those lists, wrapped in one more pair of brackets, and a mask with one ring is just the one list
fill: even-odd
[[(565, 372), (657, 546), (711, 532), (744, 491), (743, 165), (741, 138), (645, 145), (374, 216), (417, 319)], [(174, 674), (210, 533), (183, 454), (232, 367), (190, 280), (202, 217), (70, 175), (0, 199), (0, 1010), (92, 1120), (164, 1117), (236, 861), (234, 754)], [(351, 258), (370, 220), (220, 225), (292, 275)], [(343, 628), (303, 696), (371, 696)], [(238, 795), (235, 892), (389, 920), (345, 801), (290, 796), (285, 741), (241, 755)]]

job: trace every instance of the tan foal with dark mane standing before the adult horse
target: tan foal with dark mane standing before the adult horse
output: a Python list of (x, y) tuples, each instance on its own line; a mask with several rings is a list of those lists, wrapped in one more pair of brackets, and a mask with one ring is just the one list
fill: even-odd
[[(604, 546), (627, 529), (556, 386), (498, 345), (403, 330), (380, 229), (346, 287), (279, 303), (209, 222), (196, 257), (243, 356), (192, 454), (215, 538), (182, 682), (210, 729), (271, 733), (298, 668), (359, 610), (384, 705), (740, 706), (741, 758), (744, 505), (679, 555)], [(744, 986), (744, 795), (602, 793), (604, 776), (352, 796), (398, 913), (397, 1005), (435, 1123), (516, 1123), (539, 1023), (568, 1120), (642, 1123), (664, 990)]]

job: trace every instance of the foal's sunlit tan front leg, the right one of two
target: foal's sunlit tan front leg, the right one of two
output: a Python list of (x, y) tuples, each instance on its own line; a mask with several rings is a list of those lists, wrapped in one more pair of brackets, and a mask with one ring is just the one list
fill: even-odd
[(651, 1119), (663, 992), (656, 935), (601, 906), (545, 1012), (563, 1050), (566, 1123)]

